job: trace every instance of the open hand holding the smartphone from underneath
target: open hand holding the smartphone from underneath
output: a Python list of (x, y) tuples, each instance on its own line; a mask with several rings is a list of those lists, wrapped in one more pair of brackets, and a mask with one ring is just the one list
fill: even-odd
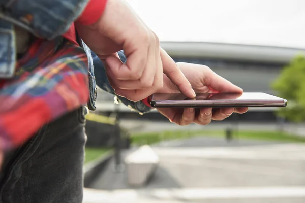
[[(241, 88), (217, 75), (205, 65), (191, 63), (177, 63), (177, 65), (197, 93), (243, 92)], [(164, 75), (164, 86), (158, 93), (179, 93), (179, 90)], [(158, 108), (157, 110), (178, 125), (190, 123), (207, 125), (211, 120), (223, 120), (233, 112), (245, 113), (248, 108), (201, 108), (198, 112), (194, 108)]]

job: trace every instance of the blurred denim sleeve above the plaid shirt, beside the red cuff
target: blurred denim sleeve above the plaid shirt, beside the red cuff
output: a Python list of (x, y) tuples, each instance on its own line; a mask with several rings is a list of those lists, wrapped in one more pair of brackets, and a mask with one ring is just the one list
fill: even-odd
[(0, 0), (0, 19), (36, 36), (53, 39), (65, 33), (89, 0)]

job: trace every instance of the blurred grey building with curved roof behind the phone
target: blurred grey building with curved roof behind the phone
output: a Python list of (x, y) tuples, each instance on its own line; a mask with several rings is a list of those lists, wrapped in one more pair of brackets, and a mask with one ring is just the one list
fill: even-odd
[(164, 42), (175, 61), (204, 64), (245, 92), (275, 94), (271, 83), (303, 49), (203, 42)]

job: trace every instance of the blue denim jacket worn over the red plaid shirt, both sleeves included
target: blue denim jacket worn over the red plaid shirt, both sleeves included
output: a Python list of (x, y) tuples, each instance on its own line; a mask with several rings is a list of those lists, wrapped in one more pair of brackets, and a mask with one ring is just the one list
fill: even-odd
[[(34, 36), (51, 40), (68, 30), (87, 2), (88, 0), (0, 0), (0, 79), (14, 76), (17, 55), (15, 26), (31, 32)], [(96, 79), (97, 85), (103, 90), (112, 94), (114, 91), (109, 84), (102, 62), (95, 54), (93, 58), (90, 49), (81, 39), (79, 41), (86, 51), (89, 62), (88, 108), (96, 110)], [(126, 60), (123, 52), (120, 52), (120, 57)], [(117, 97), (117, 100), (141, 114), (150, 109), (141, 101), (134, 103), (122, 97)]]

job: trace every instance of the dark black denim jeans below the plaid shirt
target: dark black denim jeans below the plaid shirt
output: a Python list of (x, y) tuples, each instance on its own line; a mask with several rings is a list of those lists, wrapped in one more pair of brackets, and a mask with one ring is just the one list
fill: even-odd
[(43, 126), (7, 154), (0, 173), (0, 202), (81, 203), (84, 125), (81, 107)]

